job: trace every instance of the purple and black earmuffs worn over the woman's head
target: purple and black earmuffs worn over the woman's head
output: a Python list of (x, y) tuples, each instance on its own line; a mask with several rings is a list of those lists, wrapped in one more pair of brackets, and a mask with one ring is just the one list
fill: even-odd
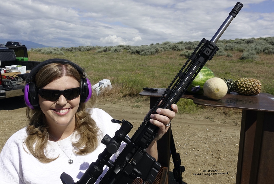
[(71, 61), (66, 59), (48, 59), (46, 61), (39, 63), (36, 67), (34, 67), (26, 79), (27, 84), (25, 85), (25, 89), (24, 89), (24, 99), (28, 107), (30, 107), (31, 109), (38, 109), (40, 107), (36, 85), (35, 85), (35, 82), (31, 82), (31, 80), (35, 77), (37, 72), (42, 67), (50, 63), (62, 63), (62, 64), (72, 65), (82, 76), (84, 76), (81, 79), (80, 102), (85, 103), (90, 99), (92, 95), (91, 83), (85, 77), (83, 69), (81, 67), (79, 67), (75, 63), (72, 63)]

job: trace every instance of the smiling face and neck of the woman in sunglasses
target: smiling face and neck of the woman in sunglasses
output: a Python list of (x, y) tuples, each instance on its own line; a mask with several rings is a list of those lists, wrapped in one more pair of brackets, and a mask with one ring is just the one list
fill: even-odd
[[(80, 105), (79, 85), (80, 83), (76, 79), (63, 76), (52, 81), (42, 89), (39, 89), (40, 91), (52, 91), (52, 96), (56, 96), (56, 99), (45, 99), (45, 96), (42, 97), (39, 95), (39, 104), (49, 126), (48, 133), (51, 139), (62, 140), (73, 133), (76, 111)], [(60, 94), (64, 93), (62, 91), (72, 91), (73, 89), (78, 89), (79, 92), (70, 93), (70, 96), (76, 94), (72, 99), (68, 99), (67, 95), (65, 95), (66, 93)], [(56, 95), (56, 92), (59, 93), (59, 97)], [(58, 132), (56, 132), (57, 130), (58, 132), (61, 130), (64, 132), (61, 137), (58, 135)]]

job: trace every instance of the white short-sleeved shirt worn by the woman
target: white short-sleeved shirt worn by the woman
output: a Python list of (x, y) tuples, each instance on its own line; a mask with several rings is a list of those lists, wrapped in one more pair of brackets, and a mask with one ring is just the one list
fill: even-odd
[[(92, 119), (96, 122), (102, 136), (99, 137), (101, 141), (104, 135), (108, 134), (110, 137), (113, 137), (116, 130), (120, 128), (119, 124), (112, 123), (113, 119), (108, 113), (102, 109), (94, 108), (92, 109)], [(49, 141), (49, 146), (47, 147), (47, 154), (50, 157), (56, 158), (55, 161), (50, 163), (41, 163), (33, 155), (27, 153), (23, 149), (23, 141), (27, 137), (26, 128), (23, 128), (13, 134), (6, 142), (0, 153), (0, 183), (33, 183), (33, 184), (44, 184), (44, 183), (62, 183), (60, 175), (65, 172), (70, 175), (74, 182), (77, 182), (81, 176), (84, 174), (86, 169), (92, 162), (97, 160), (97, 157), (105, 149), (105, 145), (100, 143), (98, 148), (89, 153), (88, 155), (75, 155), (72, 153), (72, 144), (71, 141), (77, 139), (74, 134), (70, 135), (66, 139), (58, 141), (58, 144), (53, 141)], [(122, 151), (126, 143), (122, 142), (119, 150), (112, 155), (111, 160), (115, 160), (119, 153)], [(27, 150), (26, 146), (25, 149)], [(73, 160), (72, 164), (68, 164), (68, 157), (71, 156)], [(106, 166), (104, 167), (104, 172), (101, 176), (107, 171)], [(98, 178), (99, 181), (100, 177)], [(97, 182), (98, 182), (97, 181)], [(96, 183), (97, 183), (96, 182)]]

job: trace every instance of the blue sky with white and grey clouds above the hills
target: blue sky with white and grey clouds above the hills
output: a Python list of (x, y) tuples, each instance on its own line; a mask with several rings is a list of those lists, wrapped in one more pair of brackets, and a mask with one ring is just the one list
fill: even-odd
[(0, 39), (51, 47), (150, 45), (274, 36), (274, 0), (0, 0)]

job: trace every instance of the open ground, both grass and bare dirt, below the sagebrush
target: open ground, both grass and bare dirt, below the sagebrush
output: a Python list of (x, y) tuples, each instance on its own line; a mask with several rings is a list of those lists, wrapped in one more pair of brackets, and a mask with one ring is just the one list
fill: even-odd
[[(186, 52), (167, 49), (155, 54), (140, 55), (131, 54), (126, 49), (117, 52), (110, 52), (110, 49), (99, 52), (98, 49), (63, 50), (62, 53), (51, 54), (31, 50), (29, 61), (69, 59), (86, 70), (93, 84), (102, 79), (110, 79), (113, 89), (104, 91), (98, 97), (98, 107), (115, 119), (130, 121), (134, 125), (130, 132), (132, 135), (149, 110), (149, 99), (138, 94), (143, 87), (166, 88), (187, 60), (184, 57)], [(224, 51), (225, 54), (215, 55), (206, 63), (206, 67), (216, 77), (256, 78), (262, 83), (262, 92), (274, 95), (273, 54), (261, 52), (255, 54), (256, 57), (243, 59), (241, 57), (244, 51), (240, 49), (223, 49), (221, 53)], [(18, 94), (22, 95), (21, 91)], [(22, 97), (12, 97), (12, 93), (8, 95), (10, 98), (1, 102), (7, 105), (0, 109), (0, 151), (7, 138), (27, 123)], [(241, 110), (201, 107), (187, 99), (181, 99), (178, 106), (180, 111), (172, 121), (172, 132), (176, 150), (181, 155), (182, 165), (186, 167), (182, 175), (183, 181), (189, 184), (235, 183)], [(170, 171), (173, 167), (171, 159)], [(194, 175), (203, 173), (204, 170), (217, 170), (227, 174)], [(169, 176), (169, 183), (175, 184), (172, 172)]]

